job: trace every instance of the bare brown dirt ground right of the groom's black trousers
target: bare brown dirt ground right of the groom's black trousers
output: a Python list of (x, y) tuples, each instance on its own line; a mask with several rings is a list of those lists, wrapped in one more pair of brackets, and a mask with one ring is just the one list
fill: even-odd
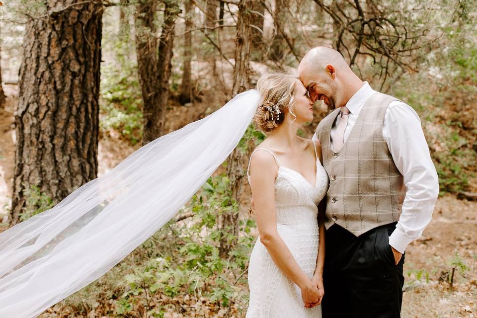
[[(477, 317), (476, 231), (477, 202), (450, 195), (437, 200), (432, 221), (422, 237), (406, 248), (402, 317)], [(451, 270), (456, 252), (469, 269), (455, 274), (451, 292), (449, 284), (439, 282), (439, 277)], [(419, 271), (423, 276), (420, 281), (416, 280)]]

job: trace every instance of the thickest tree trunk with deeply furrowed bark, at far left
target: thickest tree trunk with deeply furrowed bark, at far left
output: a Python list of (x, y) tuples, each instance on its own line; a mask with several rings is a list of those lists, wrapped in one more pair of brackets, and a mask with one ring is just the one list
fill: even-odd
[(26, 197), (28, 190), (37, 189), (56, 204), (97, 177), (103, 8), (101, 2), (87, 2), (58, 10), (74, 2), (53, 3), (56, 13), (26, 24), (15, 112), (12, 224), (46, 205)]

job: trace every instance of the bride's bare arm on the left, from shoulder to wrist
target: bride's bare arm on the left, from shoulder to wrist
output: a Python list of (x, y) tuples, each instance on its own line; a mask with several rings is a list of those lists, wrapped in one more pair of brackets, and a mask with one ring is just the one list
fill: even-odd
[[(255, 217), (260, 241), (272, 260), (302, 291), (316, 290), (307, 274), (300, 268), (290, 249), (279, 236), (275, 210), (275, 177), (277, 165), (272, 155), (256, 152), (250, 162), (250, 187), (252, 189)], [(313, 302), (313, 301), (310, 301)]]

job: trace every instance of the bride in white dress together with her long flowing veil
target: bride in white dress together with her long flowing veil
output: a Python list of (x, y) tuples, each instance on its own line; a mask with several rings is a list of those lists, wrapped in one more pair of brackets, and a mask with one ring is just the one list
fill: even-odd
[(313, 117), (312, 102), (289, 75), (262, 76), (257, 88), (0, 233), (0, 317), (36, 317), (118, 264), (200, 189), (253, 118), (270, 135), (249, 163), (260, 239), (250, 257), (247, 317), (320, 317), (317, 205), (328, 183), (319, 145), (296, 136)]

